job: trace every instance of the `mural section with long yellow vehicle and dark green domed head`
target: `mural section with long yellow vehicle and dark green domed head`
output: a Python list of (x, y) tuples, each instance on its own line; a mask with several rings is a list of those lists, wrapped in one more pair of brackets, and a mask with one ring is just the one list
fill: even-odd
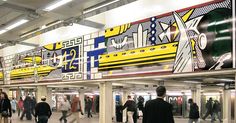
[(105, 76), (232, 68), (232, 2), (218, 0), (106, 29)]

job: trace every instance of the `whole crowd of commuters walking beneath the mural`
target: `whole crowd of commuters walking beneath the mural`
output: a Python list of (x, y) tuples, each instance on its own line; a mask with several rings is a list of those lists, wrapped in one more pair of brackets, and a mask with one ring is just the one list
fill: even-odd
[[(142, 96), (138, 97), (138, 103), (128, 96), (128, 100), (122, 106), (120, 111), (127, 109), (127, 121), (126, 123), (137, 123), (139, 112), (143, 115), (143, 123), (174, 123), (173, 117), (173, 107), (170, 103), (166, 102), (164, 98), (166, 97), (166, 88), (164, 86), (159, 86), (156, 89), (157, 98), (154, 100), (149, 100), (144, 106), (144, 98)], [(193, 102), (193, 99), (188, 100), (189, 103), (189, 121), (188, 123), (198, 123), (200, 118), (199, 107)], [(85, 100), (85, 109), (87, 110), (88, 118), (92, 117), (92, 99), (87, 97)], [(59, 121), (62, 123), (67, 123), (67, 117), (72, 117), (69, 123), (79, 123), (80, 113), (83, 115), (83, 110), (81, 106), (80, 98), (73, 96), (71, 102), (67, 97), (64, 97), (60, 102), (59, 109), (62, 113)], [(206, 114), (202, 117), (205, 120), (209, 115), (211, 115), (211, 122), (216, 120), (216, 116), (219, 121), (222, 122), (220, 117), (221, 106), (219, 101), (213, 101), (212, 98), (206, 103)], [(48, 119), (52, 115), (51, 107), (46, 102), (46, 97), (42, 96), (41, 101), (36, 103), (36, 99), (31, 96), (26, 96), (23, 100), (20, 97), (19, 101), (15, 98), (10, 100), (5, 92), (1, 92), (0, 98), (0, 123), (9, 123), (9, 118), (12, 117), (12, 113), (18, 111), (18, 117), (23, 120), (26, 117), (27, 120), (32, 120), (32, 116), (35, 117), (37, 123), (48, 123)]]

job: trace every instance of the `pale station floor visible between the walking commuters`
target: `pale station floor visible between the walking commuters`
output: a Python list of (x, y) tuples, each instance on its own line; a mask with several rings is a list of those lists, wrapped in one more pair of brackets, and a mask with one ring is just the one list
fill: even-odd
[[(52, 117), (49, 120), (49, 123), (60, 123), (59, 120), (58, 120), (60, 116), (61, 116), (61, 113), (53, 113)], [(70, 122), (70, 117), (68, 118), (68, 121)], [(35, 121), (34, 120), (27, 121), (25, 119), (21, 121), (16, 116), (16, 114), (14, 114), (13, 117), (12, 117), (12, 123), (35, 123)], [(80, 123), (98, 123), (98, 116), (95, 115), (95, 117), (93, 117), (93, 118), (82, 118)], [(114, 123), (116, 123), (116, 122), (114, 122)], [(138, 123), (142, 123), (142, 121), (139, 120)], [(176, 118), (175, 123), (188, 123), (188, 120), (187, 119), (182, 119), (182, 118)], [(210, 123), (210, 120), (200, 121), (200, 123)], [(219, 122), (216, 121), (214, 123), (219, 123)]]

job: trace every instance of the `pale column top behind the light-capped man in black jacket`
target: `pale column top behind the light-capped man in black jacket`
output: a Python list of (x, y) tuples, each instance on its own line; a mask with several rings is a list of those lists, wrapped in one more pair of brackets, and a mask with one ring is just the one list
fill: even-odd
[(48, 94), (47, 86), (45, 86), (45, 85), (37, 86), (37, 93), (36, 93), (36, 100), (37, 100), (37, 102), (41, 101), (41, 97), (42, 96), (46, 96), (47, 97), (47, 102), (49, 100), (51, 100), (50, 97), (48, 97), (47, 94)]

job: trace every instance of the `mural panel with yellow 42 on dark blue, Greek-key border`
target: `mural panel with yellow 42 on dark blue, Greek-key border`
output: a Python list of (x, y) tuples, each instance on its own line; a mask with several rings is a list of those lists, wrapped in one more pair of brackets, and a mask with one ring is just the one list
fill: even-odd
[(62, 42), (62, 80), (82, 79), (82, 37)]

